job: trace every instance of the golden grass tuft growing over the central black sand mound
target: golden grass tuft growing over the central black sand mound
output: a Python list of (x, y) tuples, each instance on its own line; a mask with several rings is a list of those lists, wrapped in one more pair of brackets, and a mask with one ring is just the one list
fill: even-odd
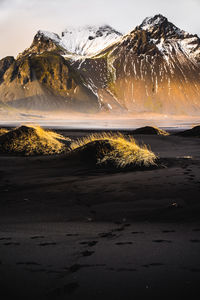
[(129, 165), (145, 167), (156, 165), (157, 157), (146, 145), (139, 146), (134, 138), (125, 137), (121, 133), (91, 134), (72, 142), (70, 147), (71, 150), (80, 150), (81, 147), (97, 141), (105, 141), (110, 145), (109, 149), (106, 144), (102, 143), (101, 149), (97, 153), (98, 164), (112, 162), (120, 168)]

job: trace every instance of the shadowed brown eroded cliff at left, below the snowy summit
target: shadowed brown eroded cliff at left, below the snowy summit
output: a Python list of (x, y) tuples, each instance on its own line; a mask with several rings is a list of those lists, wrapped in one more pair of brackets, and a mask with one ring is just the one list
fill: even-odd
[(18, 108), (75, 109), (97, 112), (97, 97), (53, 51), (19, 57), (4, 72), (0, 84), (4, 103)]

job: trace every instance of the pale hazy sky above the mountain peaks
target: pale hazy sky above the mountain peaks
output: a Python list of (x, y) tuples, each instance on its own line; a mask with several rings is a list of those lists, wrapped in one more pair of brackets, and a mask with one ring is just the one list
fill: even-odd
[(158, 13), (200, 35), (200, 0), (0, 0), (0, 58), (27, 48), (39, 29), (109, 24), (127, 33)]

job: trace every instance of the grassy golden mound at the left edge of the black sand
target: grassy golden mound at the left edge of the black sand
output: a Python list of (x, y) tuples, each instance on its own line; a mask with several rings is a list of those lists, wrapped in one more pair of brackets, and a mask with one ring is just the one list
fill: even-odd
[(39, 126), (21, 126), (0, 136), (0, 152), (50, 155), (66, 150), (68, 138)]

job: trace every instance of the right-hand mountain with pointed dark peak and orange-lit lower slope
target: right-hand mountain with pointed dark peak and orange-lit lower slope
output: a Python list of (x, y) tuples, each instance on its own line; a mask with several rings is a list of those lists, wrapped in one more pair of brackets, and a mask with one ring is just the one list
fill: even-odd
[(73, 67), (108, 109), (199, 114), (199, 54), (197, 35), (156, 15)]

